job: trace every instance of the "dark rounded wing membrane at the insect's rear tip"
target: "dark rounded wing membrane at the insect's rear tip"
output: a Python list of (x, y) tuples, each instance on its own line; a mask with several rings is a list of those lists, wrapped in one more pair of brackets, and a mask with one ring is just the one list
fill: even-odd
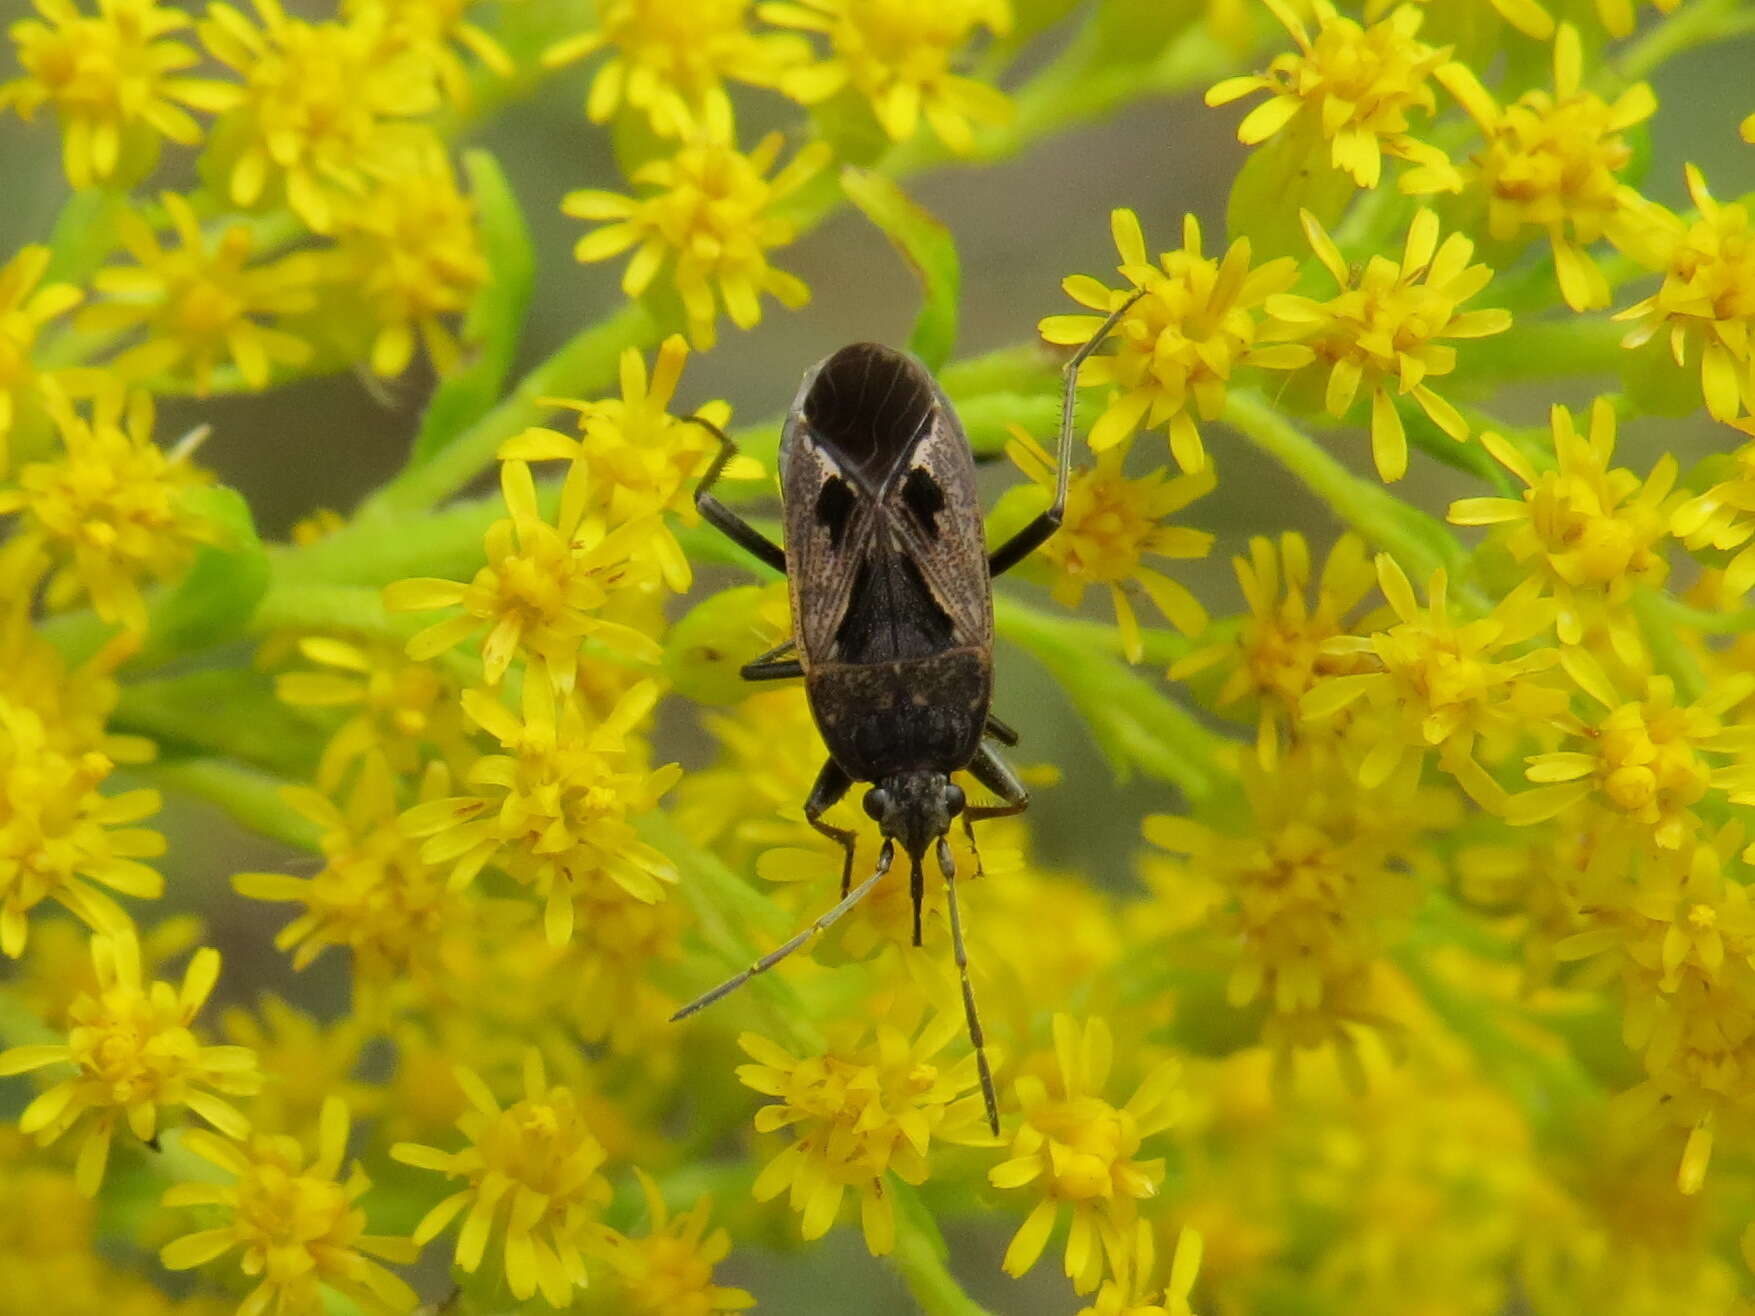
[(816, 372), (804, 418), (837, 460), (876, 490), (932, 416), (927, 372), (876, 342), (842, 347)]

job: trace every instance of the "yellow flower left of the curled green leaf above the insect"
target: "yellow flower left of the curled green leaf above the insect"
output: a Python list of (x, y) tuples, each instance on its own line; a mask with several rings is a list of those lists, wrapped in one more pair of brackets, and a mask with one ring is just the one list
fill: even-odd
[(762, 321), (762, 293), (799, 309), (811, 290), (767, 261), (772, 247), (793, 239), (793, 225), (772, 214), (774, 204), (797, 191), (828, 163), (828, 147), (813, 142), (772, 179), (783, 137), (769, 133), (742, 154), (728, 140), (700, 139), (674, 156), (634, 172), (649, 188), (644, 198), (612, 191), (570, 191), (562, 211), (574, 219), (607, 219), (574, 247), (581, 261), (609, 260), (637, 247), (621, 274), (621, 291), (641, 297), (660, 270), (683, 298), (690, 340), (706, 351), (714, 342), (720, 304), (737, 328)]

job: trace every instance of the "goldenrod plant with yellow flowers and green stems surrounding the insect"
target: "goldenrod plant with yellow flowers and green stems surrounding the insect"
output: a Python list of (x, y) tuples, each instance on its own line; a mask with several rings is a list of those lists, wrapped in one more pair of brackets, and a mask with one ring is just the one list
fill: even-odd
[[(0, 114), (65, 197), (0, 251), (0, 1311), (863, 1311), (869, 1253), (927, 1316), (1748, 1316), (1755, 195), (1650, 149), (1690, 111), (1755, 140), (1746, 88), (1664, 89), (1748, 32), (35, 0)], [(549, 81), (614, 161), (555, 179), (570, 253), (477, 144)], [(1236, 135), (1227, 223), (1148, 211), (1139, 160), (1113, 274), (1014, 281), (1027, 340), (956, 358), (913, 181), (1121, 107)], [(1099, 751), (1020, 776), (1090, 830), (956, 825), (960, 905), (897, 863), (676, 1021), (834, 904), (834, 837), (879, 863), (863, 786), (806, 814), (804, 691), (739, 677), (809, 591), (695, 504), (711, 468), (756, 533), (811, 514), (772, 497), (809, 361), (734, 421), (702, 354), (806, 305), (793, 247), (848, 211), (1011, 460), (988, 542), (1065, 488), (995, 621)], [(621, 295), (528, 365), (572, 261)], [(265, 542), (216, 398), (318, 377), (418, 433)]]

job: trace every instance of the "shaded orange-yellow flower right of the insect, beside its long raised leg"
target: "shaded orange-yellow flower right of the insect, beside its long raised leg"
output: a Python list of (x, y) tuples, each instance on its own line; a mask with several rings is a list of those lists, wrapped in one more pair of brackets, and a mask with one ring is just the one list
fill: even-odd
[[(1055, 460), (1023, 430), (1013, 428), (1006, 454), (1035, 486), (1041, 507), (1053, 498)], [(1078, 607), (1086, 586), (1107, 586), (1121, 632), (1121, 651), (1137, 663), (1146, 649), (1139, 618), (1128, 600), (1128, 588), (1144, 591), (1153, 607), (1185, 635), (1206, 630), (1207, 618), (1188, 588), (1160, 570), (1144, 565), (1155, 558), (1204, 558), (1213, 547), (1206, 530), (1167, 525), (1195, 498), (1213, 491), (1218, 477), (1213, 465), (1192, 476), (1167, 477), (1164, 467), (1139, 477), (1121, 472), (1127, 447), (1109, 447), (1090, 467), (1074, 470), (1067, 481), (1067, 511), (1060, 532), (1041, 549), (1053, 572), (1051, 593), (1064, 607)], [(1037, 509), (1039, 511), (1039, 509)]]

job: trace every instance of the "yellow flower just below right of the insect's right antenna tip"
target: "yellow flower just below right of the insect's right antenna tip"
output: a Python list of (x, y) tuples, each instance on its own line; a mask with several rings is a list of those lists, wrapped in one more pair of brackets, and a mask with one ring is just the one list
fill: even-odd
[(1164, 1181), (1162, 1160), (1137, 1156), (1144, 1139), (1181, 1116), (1181, 1067), (1164, 1062), (1116, 1107), (1104, 1097), (1114, 1058), (1109, 1025), (1092, 1016), (1081, 1026), (1055, 1014), (1053, 1026), (1053, 1070), (1048, 1079), (1025, 1072), (1014, 1083), (1023, 1119), (1011, 1156), (988, 1170), (988, 1181), (1041, 1198), (1006, 1248), (1006, 1274), (1021, 1276), (1035, 1265), (1067, 1205), (1067, 1277), (1090, 1293), (1102, 1281), (1106, 1253), (1132, 1253), (1137, 1204), (1155, 1197)]

